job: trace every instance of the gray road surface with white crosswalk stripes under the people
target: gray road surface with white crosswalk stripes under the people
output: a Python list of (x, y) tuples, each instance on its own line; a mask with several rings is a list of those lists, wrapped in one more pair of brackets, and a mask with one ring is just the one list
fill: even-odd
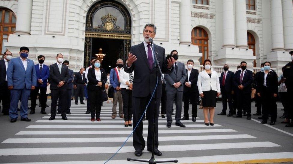
[[(111, 119), (111, 107), (111, 103), (104, 102), (101, 122), (91, 122), (90, 115), (84, 114), (86, 105), (74, 105), (74, 101), (67, 121), (61, 118), (49, 121), (50, 107), (46, 109), (47, 115), (40, 114), (37, 107), (36, 114), (29, 115), (32, 122), (18, 119), (10, 123), (9, 117), (0, 114), (0, 163), (104, 163), (132, 130), (124, 127), (123, 119)], [(246, 117), (218, 115), (214, 118), (215, 126), (205, 126), (201, 109), (198, 109), (197, 122), (183, 122), (186, 128), (177, 127), (175, 123), (167, 128), (166, 119), (159, 117), (159, 150), (163, 155), (156, 159), (178, 159), (178, 163), (244, 160), (253, 163), (254, 160), (285, 158), (293, 161), (293, 128), (280, 123), (281, 109), (278, 103), (278, 119), (272, 126), (257, 122), (261, 121), (258, 116), (246, 120)], [(215, 114), (221, 111), (222, 102), (218, 102)], [(253, 102), (252, 113), (255, 111)], [(147, 121), (143, 124), (147, 125)], [(139, 159), (150, 156), (145, 148)], [(127, 157), (137, 158), (132, 138), (108, 163), (134, 163), (128, 162)]]

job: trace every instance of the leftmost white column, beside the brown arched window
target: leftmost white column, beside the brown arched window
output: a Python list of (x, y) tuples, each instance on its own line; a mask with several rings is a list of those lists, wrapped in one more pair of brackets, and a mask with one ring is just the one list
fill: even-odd
[(29, 35), (31, 33), (32, 0), (19, 0), (17, 4), (17, 19), (15, 34)]

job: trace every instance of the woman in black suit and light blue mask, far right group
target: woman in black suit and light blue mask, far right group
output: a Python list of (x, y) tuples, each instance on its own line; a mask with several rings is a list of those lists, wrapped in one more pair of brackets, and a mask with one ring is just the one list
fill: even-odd
[(270, 70), (270, 66), (270, 62), (264, 62), (264, 71), (258, 73), (256, 92), (263, 104), (261, 123), (266, 124), (270, 114), (270, 125), (274, 125), (277, 119), (278, 75)]

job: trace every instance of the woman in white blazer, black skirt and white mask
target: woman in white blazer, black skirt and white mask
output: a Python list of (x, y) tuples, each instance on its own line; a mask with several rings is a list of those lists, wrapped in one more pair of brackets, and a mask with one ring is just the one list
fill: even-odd
[[(220, 95), (219, 76), (216, 71), (210, 70), (212, 62), (209, 59), (204, 60), (204, 70), (198, 74), (198, 91), (202, 98), (204, 111), (204, 124), (214, 125), (214, 113), (216, 107), (216, 98)], [(210, 110), (210, 123), (208, 113)]]

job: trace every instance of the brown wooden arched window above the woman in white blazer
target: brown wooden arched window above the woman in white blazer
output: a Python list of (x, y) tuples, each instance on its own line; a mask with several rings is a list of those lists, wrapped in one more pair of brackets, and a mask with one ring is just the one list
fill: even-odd
[(199, 53), (202, 53), (199, 63), (202, 65), (205, 59), (209, 59), (209, 36), (207, 31), (201, 27), (193, 28), (191, 32), (191, 42), (198, 45)]

